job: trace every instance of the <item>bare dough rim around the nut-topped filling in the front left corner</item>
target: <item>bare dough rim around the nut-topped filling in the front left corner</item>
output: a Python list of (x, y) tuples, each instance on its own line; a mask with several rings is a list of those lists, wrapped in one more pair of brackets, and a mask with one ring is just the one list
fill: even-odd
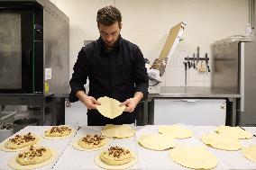
[[(23, 166), (23, 165), (21, 165), (20, 163), (17, 162), (17, 157), (19, 156), (19, 155), (17, 155), (15, 157), (12, 157), (9, 160), (8, 165), (11, 166), (12, 168), (16, 169), (16, 170), (28, 170), (28, 169), (39, 168), (39, 167), (42, 167), (42, 166), (47, 166), (52, 161), (54, 161), (55, 158), (57, 157), (56, 151), (54, 151), (50, 148), (47, 148), (47, 151), (48, 151), (47, 156), (45, 156), (45, 160), (43, 160), (43, 162), (41, 162), (41, 163)], [(50, 156), (49, 156), (49, 152), (50, 152)], [(35, 162), (40, 162), (40, 161), (35, 161)]]

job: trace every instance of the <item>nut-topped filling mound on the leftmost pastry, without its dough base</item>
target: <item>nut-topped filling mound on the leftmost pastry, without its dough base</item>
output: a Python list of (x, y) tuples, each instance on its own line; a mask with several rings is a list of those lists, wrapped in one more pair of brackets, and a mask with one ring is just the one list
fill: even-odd
[(5, 148), (23, 148), (28, 147), (34, 143), (36, 143), (38, 139), (31, 133), (27, 133), (25, 135), (15, 135), (13, 139), (9, 139), (5, 143)]

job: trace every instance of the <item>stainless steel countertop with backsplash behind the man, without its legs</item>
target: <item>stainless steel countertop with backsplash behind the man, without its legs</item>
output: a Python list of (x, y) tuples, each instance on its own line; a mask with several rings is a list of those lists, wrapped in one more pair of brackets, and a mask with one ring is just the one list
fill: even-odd
[(200, 86), (162, 86), (160, 94), (149, 94), (151, 98), (241, 98), (241, 94), (229, 89)]

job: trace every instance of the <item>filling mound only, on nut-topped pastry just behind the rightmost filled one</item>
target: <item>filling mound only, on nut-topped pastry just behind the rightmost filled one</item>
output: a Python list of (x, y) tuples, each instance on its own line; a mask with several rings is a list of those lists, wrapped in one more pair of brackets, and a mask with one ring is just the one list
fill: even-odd
[(105, 137), (101, 135), (87, 135), (78, 140), (78, 145), (82, 148), (99, 148), (106, 143)]

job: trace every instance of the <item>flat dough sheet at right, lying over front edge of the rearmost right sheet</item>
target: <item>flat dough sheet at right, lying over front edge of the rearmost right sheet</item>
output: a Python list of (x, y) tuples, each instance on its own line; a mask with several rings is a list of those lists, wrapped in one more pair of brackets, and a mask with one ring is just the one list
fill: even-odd
[(212, 148), (218, 148), (222, 150), (239, 150), (242, 148), (239, 139), (235, 139), (231, 136), (222, 134), (206, 134), (201, 137), (201, 140)]

